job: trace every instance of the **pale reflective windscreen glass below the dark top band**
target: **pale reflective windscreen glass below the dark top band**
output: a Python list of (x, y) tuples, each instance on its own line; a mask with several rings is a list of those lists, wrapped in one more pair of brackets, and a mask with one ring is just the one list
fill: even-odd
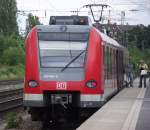
[[(86, 50), (83, 41), (39, 41), (41, 67), (64, 68), (77, 55)], [(85, 53), (82, 53), (67, 67), (84, 67)]]

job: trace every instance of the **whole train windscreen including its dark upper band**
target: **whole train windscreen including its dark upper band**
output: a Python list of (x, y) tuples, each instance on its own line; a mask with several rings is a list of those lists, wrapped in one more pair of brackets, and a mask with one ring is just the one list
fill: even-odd
[(41, 68), (83, 68), (88, 33), (38, 33)]

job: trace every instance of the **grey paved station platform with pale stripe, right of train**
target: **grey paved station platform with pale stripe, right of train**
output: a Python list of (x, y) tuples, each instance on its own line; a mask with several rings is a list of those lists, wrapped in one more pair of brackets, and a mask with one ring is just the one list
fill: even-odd
[(125, 88), (76, 130), (150, 130), (150, 86)]

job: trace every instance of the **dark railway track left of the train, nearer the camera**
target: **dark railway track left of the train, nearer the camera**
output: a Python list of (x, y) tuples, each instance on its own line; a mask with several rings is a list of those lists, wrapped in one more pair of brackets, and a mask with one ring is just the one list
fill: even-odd
[(22, 106), (23, 89), (8, 89), (0, 91), (0, 112)]

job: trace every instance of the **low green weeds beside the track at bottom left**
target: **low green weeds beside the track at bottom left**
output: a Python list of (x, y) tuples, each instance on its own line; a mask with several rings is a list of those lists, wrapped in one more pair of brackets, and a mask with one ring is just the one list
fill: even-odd
[(22, 117), (17, 116), (17, 113), (11, 112), (8, 113), (6, 117), (7, 125), (6, 129), (11, 129), (11, 128), (19, 128), (19, 125), (22, 123)]

